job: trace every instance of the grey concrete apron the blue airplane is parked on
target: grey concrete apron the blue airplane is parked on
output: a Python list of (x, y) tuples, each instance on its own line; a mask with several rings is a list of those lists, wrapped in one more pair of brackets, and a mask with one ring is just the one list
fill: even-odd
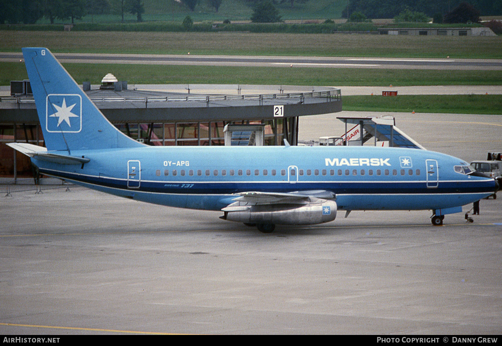
[[(431, 150), (500, 147), (500, 116), (394, 115)], [(301, 136), (329, 117), (303, 117)], [(473, 223), (353, 211), (265, 235), (81, 187), (2, 195), (0, 333), (499, 334), (500, 200), (481, 200)]]

